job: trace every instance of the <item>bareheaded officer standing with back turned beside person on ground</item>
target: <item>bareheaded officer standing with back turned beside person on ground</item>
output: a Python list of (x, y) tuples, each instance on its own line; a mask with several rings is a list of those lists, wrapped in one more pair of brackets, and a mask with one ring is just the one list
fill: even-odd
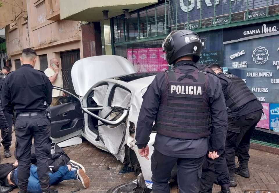
[(51, 124), (46, 116), (46, 106), (51, 104), (53, 86), (44, 72), (34, 69), (36, 56), (33, 49), (23, 49), (20, 58), (23, 65), (10, 72), (2, 86), (3, 107), (10, 114), (14, 112), (15, 158), (19, 163), (20, 193), (27, 193), (32, 138), (34, 138), (37, 173), (42, 192), (54, 192), (49, 189), (47, 155), (51, 149)]

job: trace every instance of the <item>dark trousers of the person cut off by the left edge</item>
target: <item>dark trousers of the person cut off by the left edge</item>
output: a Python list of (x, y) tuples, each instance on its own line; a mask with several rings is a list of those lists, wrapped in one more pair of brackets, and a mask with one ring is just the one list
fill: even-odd
[(7, 118), (5, 116), (6, 114), (8, 113), (5, 110), (0, 110), (1, 143), (4, 147), (9, 147), (12, 145), (12, 119), (7, 120), (10, 114), (7, 115)]

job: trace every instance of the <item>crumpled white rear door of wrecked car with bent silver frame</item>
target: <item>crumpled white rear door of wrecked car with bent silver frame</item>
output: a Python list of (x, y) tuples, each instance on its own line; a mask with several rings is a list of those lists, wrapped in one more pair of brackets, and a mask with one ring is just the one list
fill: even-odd
[(131, 92), (117, 84), (110, 84), (108, 90), (110, 93), (105, 98), (103, 107), (82, 109), (98, 120), (98, 135), (105, 148), (122, 160), (125, 155), (126, 118), (130, 108)]

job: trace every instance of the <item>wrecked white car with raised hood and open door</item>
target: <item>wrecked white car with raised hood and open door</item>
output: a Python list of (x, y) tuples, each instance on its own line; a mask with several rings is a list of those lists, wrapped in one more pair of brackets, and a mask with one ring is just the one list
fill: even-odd
[[(113, 77), (113, 78), (110, 78)], [(142, 169), (151, 180), (151, 161), (140, 157), (135, 146), (135, 130), (142, 95), (155, 73), (135, 73), (121, 56), (94, 56), (74, 63), (71, 78), (79, 97), (70, 94), (51, 107), (51, 138), (60, 147), (81, 144), (81, 136), (94, 146), (110, 152), (118, 160)], [(150, 153), (156, 133), (149, 141)]]

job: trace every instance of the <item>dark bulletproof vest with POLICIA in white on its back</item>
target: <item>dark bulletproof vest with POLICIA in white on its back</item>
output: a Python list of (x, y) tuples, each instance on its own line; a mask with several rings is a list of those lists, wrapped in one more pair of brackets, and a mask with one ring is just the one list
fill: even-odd
[(211, 116), (206, 72), (196, 69), (184, 74), (175, 68), (165, 72), (165, 79), (166, 87), (153, 129), (179, 139), (209, 136)]

